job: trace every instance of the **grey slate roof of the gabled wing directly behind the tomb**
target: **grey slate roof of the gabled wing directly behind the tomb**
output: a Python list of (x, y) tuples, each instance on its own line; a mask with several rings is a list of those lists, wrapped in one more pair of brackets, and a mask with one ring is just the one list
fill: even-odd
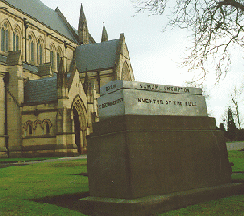
[(119, 42), (119, 39), (115, 39), (102, 43), (78, 46), (75, 52), (78, 71), (82, 73), (114, 67)]

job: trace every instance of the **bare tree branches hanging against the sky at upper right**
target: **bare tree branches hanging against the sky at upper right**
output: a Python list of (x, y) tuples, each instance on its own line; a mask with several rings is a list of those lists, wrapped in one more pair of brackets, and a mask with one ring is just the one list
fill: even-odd
[(189, 71), (200, 69), (203, 78), (214, 66), (219, 80), (229, 70), (231, 48), (244, 48), (244, 0), (131, 1), (138, 12), (166, 15), (166, 27), (192, 32), (190, 39), (194, 43), (182, 64)]

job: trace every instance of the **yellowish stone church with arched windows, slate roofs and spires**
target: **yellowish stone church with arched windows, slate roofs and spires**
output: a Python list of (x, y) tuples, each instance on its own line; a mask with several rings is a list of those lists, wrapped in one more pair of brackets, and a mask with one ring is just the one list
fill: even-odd
[(85, 153), (100, 87), (134, 80), (124, 35), (96, 43), (82, 5), (76, 30), (40, 0), (0, 0), (0, 28), (0, 157)]

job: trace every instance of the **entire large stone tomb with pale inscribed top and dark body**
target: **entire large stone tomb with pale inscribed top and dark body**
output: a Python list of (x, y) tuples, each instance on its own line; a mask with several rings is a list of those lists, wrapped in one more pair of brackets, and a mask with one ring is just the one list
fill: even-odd
[(148, 215), (161, 196), (231, 182), (201, 89), (112, 81), (98, 109), (87, 139), (90, 197), (82, 200), (95, 215)]

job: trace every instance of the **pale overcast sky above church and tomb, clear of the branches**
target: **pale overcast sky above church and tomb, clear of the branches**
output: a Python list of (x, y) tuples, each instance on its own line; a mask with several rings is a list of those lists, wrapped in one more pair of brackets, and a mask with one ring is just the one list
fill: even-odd
[[(185, 50), (189, 40), (181, 30), (162, 32), (166, 23), (163, 16), (136, 14), (130, 0), (41, 1), (52, 9), (58, 7), (76, 29), (82, 3), (89, 32), (96, 42), (101, 40), (103, 23), (109, 40), (118, 39), (120, 33), (124, 33), (136, 81), (182, 86), (185, 81), (192, 79), (193, 75), (189, 74), (186, 68), (179, 66), (186, 56)], [(205, 83), (210, 94), (207, 100), (208, 111), (217, 119), (217, 124), (222, 121), (222, 115), (230, 104), (228, 96), (232, 92), (233, 84), (239, 85), (240, 81), (243, 81), (241, 61), (242, 58), (237, 53), (231, 73), (220, 86), (214, 87), (213, 82)]]

